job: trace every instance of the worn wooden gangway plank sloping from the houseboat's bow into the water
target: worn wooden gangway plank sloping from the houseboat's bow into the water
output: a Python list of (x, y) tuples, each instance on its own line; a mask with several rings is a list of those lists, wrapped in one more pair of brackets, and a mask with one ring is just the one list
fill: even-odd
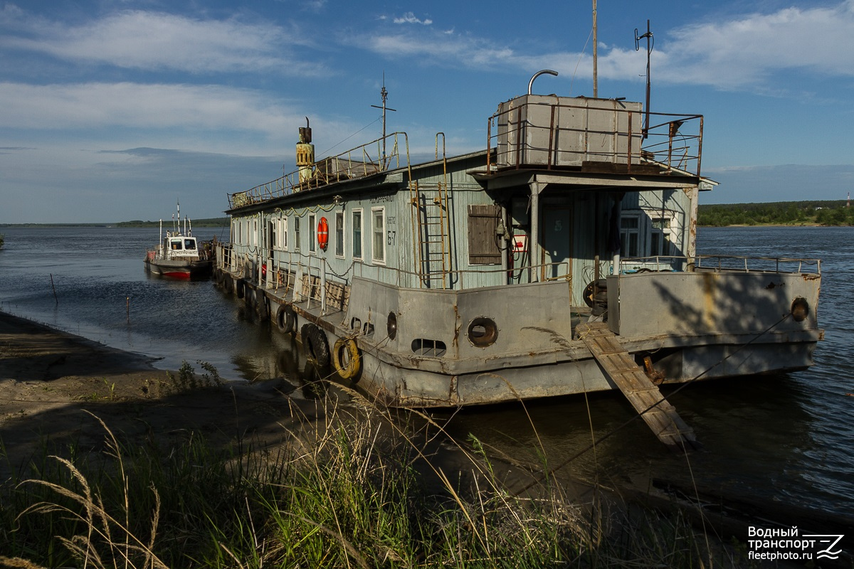
[(661, 442), (673, 450), (699, 448), (693, 429), (682, 421), (676, 408), (635, 363), (605, 322), (579, 324), (576, 337), (588, 346), (605, 375), (620, 388)]

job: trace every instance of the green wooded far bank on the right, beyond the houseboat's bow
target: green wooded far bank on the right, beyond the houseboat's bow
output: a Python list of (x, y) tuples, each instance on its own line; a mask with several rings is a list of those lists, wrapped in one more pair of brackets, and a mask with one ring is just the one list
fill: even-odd
[(697, 208), (697, 223), (705, 227), (854, 225), (854, 208), (845, 204), (845, 200), (815, 200), (701, 205)]

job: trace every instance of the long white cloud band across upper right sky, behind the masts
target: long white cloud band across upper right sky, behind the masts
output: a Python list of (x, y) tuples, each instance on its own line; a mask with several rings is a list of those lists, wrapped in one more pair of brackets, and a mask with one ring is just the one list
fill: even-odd
[[(403, 22), (417, 20), (407, 14)], [(692, 24), (661, 32), (652, 52), (655, 77), (675, 84), (701, 84), (721, 89), (786, 90), (777, 73), (814, 76), (854, 75), (854, 0), (835, 6), (787, 8), (771, 14), (748, 14)], [(424, 63), (459, 67), (551, 68), (561, 75), (592, 69), (589, 53), (524, 53), (487, 38), (424, 29), (379, 33), (356, 40), (389, 58), (418, 57)], [(646, 67), (644, 49), (600, 48), (600, 78), (640, 80)]]

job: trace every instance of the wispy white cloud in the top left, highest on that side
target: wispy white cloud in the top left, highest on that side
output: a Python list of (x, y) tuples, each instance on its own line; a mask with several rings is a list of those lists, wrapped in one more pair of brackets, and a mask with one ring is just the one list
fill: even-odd
[(132, 10), (79, 26), (65, 26), (27, 18), (14, 6), (3, 9), (0, 22), (6, 28), (0, 38), (3, 47), (46, 53), (67, 61), (189, 73), (324, 72), (317, 64), (283, 55), (303, 41), (302, 34), (266, 23), (200, 20)]

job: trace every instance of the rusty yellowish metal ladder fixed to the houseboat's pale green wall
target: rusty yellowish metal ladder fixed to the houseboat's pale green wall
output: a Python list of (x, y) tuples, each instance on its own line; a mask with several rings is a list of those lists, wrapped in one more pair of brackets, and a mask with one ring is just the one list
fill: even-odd
[(416, 273), (422, 287), (450, 286), (451, 227), (447, 203), (447, 160), (445, 135), (436, 135), (436, 160), (439, 158), (439, 136), (442, 135), (442, 182), (409, 182), (412, 206), (412, 247), (417, 260)]

